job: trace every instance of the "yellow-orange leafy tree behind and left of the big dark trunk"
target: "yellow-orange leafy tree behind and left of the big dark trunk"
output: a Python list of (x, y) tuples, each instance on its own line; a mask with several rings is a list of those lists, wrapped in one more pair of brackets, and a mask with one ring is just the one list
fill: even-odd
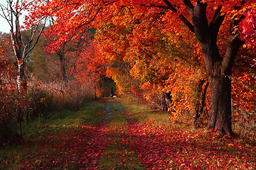
[[(126, 88), (123, 85), (119, 88), (122, 93), (127, 95), (127, 90), (133, 89), (134, 94), (139, 94), (137, 97), (145, 98), (152, 107), (175, 111), (170, 116), (172, 120), (182, 116), (186, 122), (186, 113), (187, 117), (194, 117), (193, 124), (196, 124), (206, 106), (208, 87), (203, 86), (208, 82), (202, 74), (205, 69), (201, 56), (193, 50), (195, 40), (188, 43), (184, 38), (174, 40), (176, 34), (161, 33), (156, 20), (160, 16), (161, 11), (155, 11), (134, 18), (130, 10), (123, 7), (99, 24), (98, 47), (102, 55), (116, 63), (108, 64), (107, 72), (118, 77), (115, 79), (117, 86), (127, 84)], [(124, 77), (129, 76), (133, 79), (125, 83)]]

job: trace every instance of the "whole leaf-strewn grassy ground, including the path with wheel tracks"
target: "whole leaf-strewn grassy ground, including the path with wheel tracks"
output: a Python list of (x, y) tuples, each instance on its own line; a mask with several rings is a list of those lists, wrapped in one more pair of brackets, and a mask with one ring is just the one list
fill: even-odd
[(0, 149), (0, 169), (256, 169), (256, 142), (167, 120), (121, 100), (85, 103), (24, 125), (21, 145)]

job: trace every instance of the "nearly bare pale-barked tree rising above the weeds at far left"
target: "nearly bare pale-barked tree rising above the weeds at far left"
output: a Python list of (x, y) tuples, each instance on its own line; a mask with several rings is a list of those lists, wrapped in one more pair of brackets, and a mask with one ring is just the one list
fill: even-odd
[(23, 26), (21, 26), (20, 20), (22, 12), (27, 8), (28, 4), (26, 4), (25, 1), (9, 0), (6, 1), (6, 4), (1, 4), (1, 16), (10, 26), (11, 42), (18, 71), (16, 78), (18, 91), (26, 91), (25, 62), (33, 48), (36, 46), (38, 38), (44, 28), (44, 26), (41, 26), (40, 24), (35, 25), (33, 29), (31, 29), (31, 38), (24, 44), (21, 34)]

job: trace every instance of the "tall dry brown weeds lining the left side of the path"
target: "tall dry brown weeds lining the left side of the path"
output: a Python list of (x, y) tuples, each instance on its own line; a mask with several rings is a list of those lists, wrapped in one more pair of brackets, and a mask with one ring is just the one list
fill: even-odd
[(18, 94), (15, 79), (0, 86), (0, 147), (22, 138), (23, 121), (45, 116), (54, 110), (78, 111), (85, 100), (95, 96), (92, 84), (78, 81), (46, 83), (31, 76), (25, 94)]

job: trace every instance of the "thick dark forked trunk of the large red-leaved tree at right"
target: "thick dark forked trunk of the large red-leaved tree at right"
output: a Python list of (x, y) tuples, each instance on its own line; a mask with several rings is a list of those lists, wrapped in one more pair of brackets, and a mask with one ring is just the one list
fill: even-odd
[(210, 117), (208, 130), (218, 130), (227, 135), (233, 135), (231, 123), (231, 80), (232, 67), (235, 57), (242, 42), (239, 38), (239, 31), (235, 30), (239, 20), (232, 17), (230, 20), (230, 35), (225, 55), (220, 55), (217, 45), (217, 38), (220, 26), (225, 15), (221, 8), (215, 10), (213, 20), (208, 23), (206, 16), (207, 4), (197, 0), (195, 5), (189, 0), (183, 3), (190, 13), (194, 33), (201, 45), (203, 57), (206, 64), (206, 72), (210, 81)]

